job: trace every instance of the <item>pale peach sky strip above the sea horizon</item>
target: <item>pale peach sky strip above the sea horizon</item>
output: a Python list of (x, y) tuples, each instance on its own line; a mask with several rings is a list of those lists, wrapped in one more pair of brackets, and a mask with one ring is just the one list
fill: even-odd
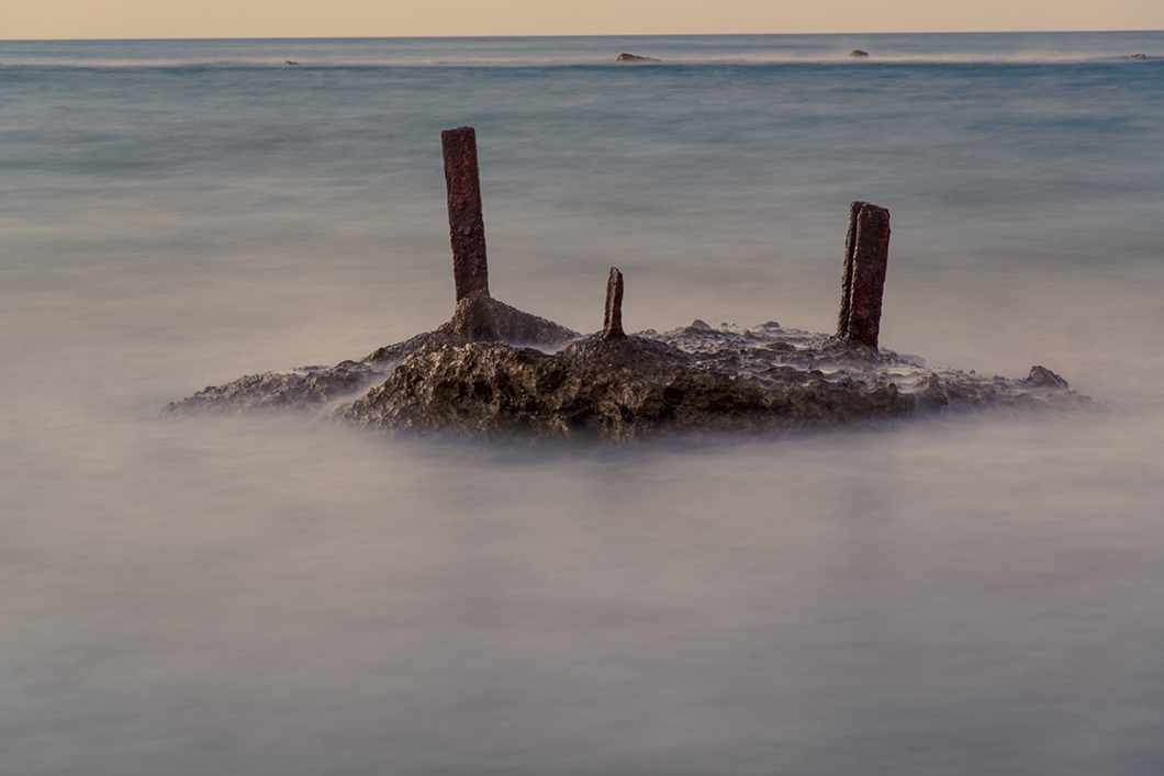
[(1164, 0), (0, 0), (0, 40), (1164, 30)]

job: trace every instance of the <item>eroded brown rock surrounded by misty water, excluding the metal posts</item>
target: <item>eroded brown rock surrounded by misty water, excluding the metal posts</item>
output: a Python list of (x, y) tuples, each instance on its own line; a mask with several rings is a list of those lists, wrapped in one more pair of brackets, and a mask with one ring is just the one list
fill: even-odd
[[(549, 350), (473, 341), (454, 321), (363, 362), (207, 389), (168, 405), (164, 414), (307, 411), (359, 427), (633, 439), (796, 432), (991, 407), (1095, 406), (1042, 366), (1024, 379), (935, 370), (914, 356), (775, 322), (741, 329), (696, 321), (665, 334), (576, 337)], [(565, 329), (535, 330), (556, 336)]]

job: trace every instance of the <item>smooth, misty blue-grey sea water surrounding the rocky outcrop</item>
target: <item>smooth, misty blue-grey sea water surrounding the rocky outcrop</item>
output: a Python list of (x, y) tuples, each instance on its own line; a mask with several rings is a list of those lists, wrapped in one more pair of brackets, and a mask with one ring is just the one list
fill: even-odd
[[(1107, 410), (157, 422), (446, 320), (462, 124), (509, 304), (830, 330), (864, 199), (883, 347)], [(0, 773), (1164, 771), (1161, 180), (1164, 33), (0, 42)]]

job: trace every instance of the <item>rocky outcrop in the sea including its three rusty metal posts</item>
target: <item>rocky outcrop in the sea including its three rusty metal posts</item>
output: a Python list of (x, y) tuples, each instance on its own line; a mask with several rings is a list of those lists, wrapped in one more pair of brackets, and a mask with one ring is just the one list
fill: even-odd
[[(889, 212), (850, 207), (835, 334), (769, 321), (740, 329), (623, 329), (623, 273), (603, 329), (581, 336), (489, 294), (475, 136), (442, 134), (456, 306), (433, 332), (359, 362), (244, 376), (168, 404), (163, 417), (297, 412), (371, 428), (459, 435), (796, 432), (958, 410), (1078, 410), (1095, 403), (1032, 366), (1023, 379), (929, 369), (879, 347)], [(533, 347), (530, 347), (533, 346)]]

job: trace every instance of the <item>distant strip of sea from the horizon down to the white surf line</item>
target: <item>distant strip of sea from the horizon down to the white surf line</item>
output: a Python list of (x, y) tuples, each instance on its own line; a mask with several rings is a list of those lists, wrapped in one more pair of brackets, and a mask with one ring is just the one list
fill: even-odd
[[(851, 60), (854, 49), (871, 56)], [(623, 51), (661, 62), (616, 63)], [(0, 41), (0, 69), (1088, 65), (1128, 62), (1133, 54), (1164, 62), (1164, 33)]]

